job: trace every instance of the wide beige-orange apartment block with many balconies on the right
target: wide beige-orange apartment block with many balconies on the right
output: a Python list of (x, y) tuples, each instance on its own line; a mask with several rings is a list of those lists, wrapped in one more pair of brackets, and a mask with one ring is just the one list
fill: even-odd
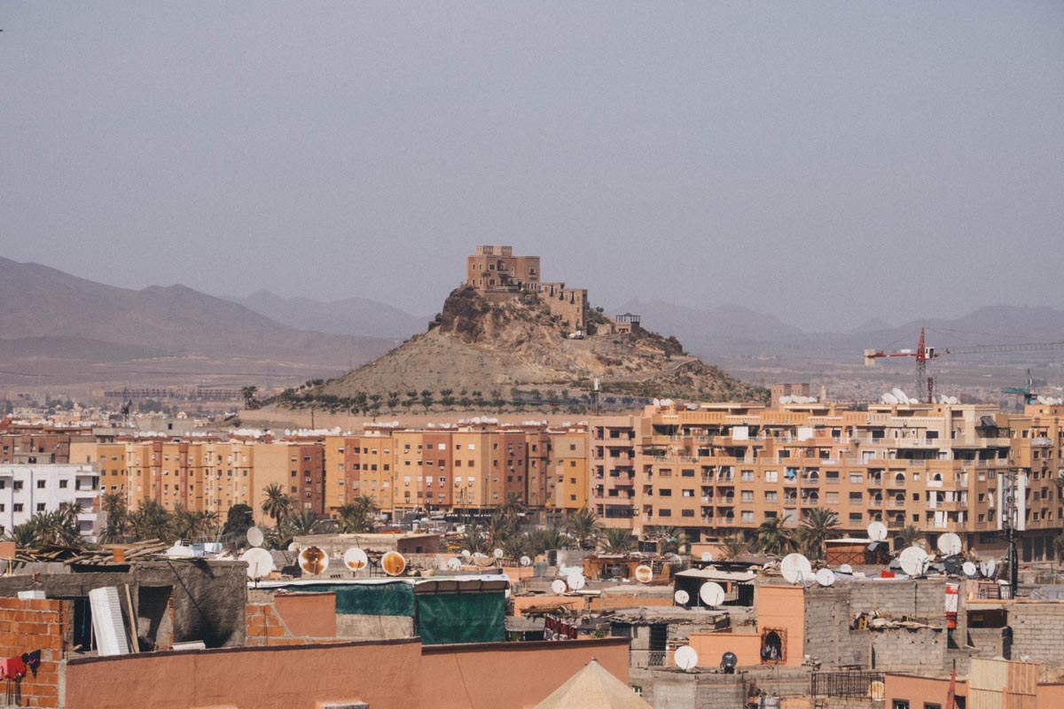
[(608, 525), (711, 540), (774, 518), (797, 526), (825, 507), (855, 536), (872, 521), (914, 525), (932, 544), (954, 531), (997, 554), (1015, 486), (1024, 558), (1044, 559), (1064, 519), (1052, 483), (1062, 416), (1041, 405), (1012, 418), (977, 405), (649, 407), (632, 425), (593, 422), (592, 506)]

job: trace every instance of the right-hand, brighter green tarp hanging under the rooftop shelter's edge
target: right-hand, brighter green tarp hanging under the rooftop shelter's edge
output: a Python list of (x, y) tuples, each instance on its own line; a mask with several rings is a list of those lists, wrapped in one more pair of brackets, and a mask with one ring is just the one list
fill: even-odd
[(498, 593), (423, 593), (417, 596), (417, 635), (426, 645), (502, 642), (506, 597)]

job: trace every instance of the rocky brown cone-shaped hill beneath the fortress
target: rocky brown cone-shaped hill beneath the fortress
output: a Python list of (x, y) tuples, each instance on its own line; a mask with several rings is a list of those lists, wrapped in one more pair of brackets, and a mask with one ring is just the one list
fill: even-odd
[(362, 394), (439, 392), (586, 391), (631, 396), (760, 400), (765, 392), (684, 353), (676, 338), (647, 331), (609, 333), (593, 314), (584, 339), (551, 317), (535, 293), (489, 302), (463, 286), (447, 298), (430, 328), (312, 393), (348, 399)]

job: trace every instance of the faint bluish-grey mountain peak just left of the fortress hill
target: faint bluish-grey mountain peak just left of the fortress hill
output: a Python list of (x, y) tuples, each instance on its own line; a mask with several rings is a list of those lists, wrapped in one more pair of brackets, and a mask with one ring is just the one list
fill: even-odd
[(406, 339), (423, 333), (431, 319), (366, 298), (322, 302), (257, 290), (246, 298), (228, 297), (228, 300), (292, 327), (334, 335)]

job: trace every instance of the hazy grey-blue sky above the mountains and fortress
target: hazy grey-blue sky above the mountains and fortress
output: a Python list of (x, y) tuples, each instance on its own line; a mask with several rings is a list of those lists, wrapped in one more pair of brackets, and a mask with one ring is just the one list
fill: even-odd
[(427, 314), (1064, 304), (1064, 3), (0, 4), (0, 255)]

